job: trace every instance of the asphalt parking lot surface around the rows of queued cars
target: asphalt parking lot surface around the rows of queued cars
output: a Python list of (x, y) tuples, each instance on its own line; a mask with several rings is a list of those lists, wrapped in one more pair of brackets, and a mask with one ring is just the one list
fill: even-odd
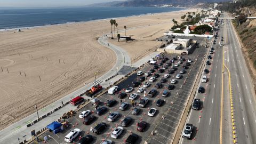
[[(103, 113), (103, 115), (98, 116), (95, 114), (95, 108), (92, 107), (91, 104), (85, 106), (81, 110), (77, 111), (77, 114), (74, 117), (68, 118), (67, 121), (69, 122), (69, 126), (63, 130), (60, 133), (53, 134), (53, 132), (47, 131), (43, 134), (43, 137), (45, 135), (50, 135), (52, 138), (47, 140), (47, 143), (67, 143), (65, 142), (64, 138), (65, 135), (69, 133), (70, 130), (73, 129), (81, 129), (82, 133), (81, 136), (85, 136), (87, 134), (93, 135), (94, 140), (92, 143), (101, 143), (103, 139), (110, 139), (114, 143), (124, 143), (127, 137), (129, 137), (130, 133), (137, 133), (139, 135), (139, 139), (136, 143), (144, 143), (147, 141), (148, 143), (170, 143), (172, 141), (172, 138), (174, 136), (174, 131), (176, 127), (178, 126), (179, 119), (182, 114), (182, 110), (186, 107), (186, 101), (188, 99), (189, 93), (194, 85), (194, 81), (196, 79), (196, 74), (198, 73), (199, 66), (201, 66), (202, 60), (204, 59), (204, 55), (206, 53), (207, 49), (205, 47), (199, 47), (197, 48), (193, 54), (190, 55), (182, 55), (182, 58), (185, 58), (186, 61), (183, 61), (177, 68), (177, 70), (174, 71), (173, 74), (170, 74), (169, 78), (167, 79), (166, 83), (163, 83), (163, 87), (160, 89), (157, 89), (157, 94), (155, 97), (149, 97), (149, 103), (146, 105), (145, 108), (140, 108), (139, 106), (136, 106), (140, 108), (140, 113), (138, 115), (132, 114), (132, 107), (131, 100), (129, 100), (128, 97), (125, 97), (122, 99), (122, 102), (128, 102), (129, 107), (127, 109), (119, 110), (119, 105), (121, 104), (121, 99), (118, 98), (119, 93), (124, 92), (127, 87), (132, 87), (132, 83), (139, 80), (140, 76), (137, 76), (137, 73), (132, 74), (131, 76), (127, 77), (123, 82), (117, 84), (118, 91), (116, 94), (108, 94), (105, 93), (99, 97), (99, 99), (102, 101), (100, 103), (100, 106), (107, 107), (107, 111)], [(161, 56), (162, 57), (162, 56)], [(178, 55), (172, 55), (172, 54), (165, 54), (164, 57), (169, 58), (170, 60), (173, 57), (177, 57)], [(178, 82), (174, 85), (173, 90), (168, 90), (167, 87), (171, 85), (171, 79), (175, 78), (177, 74), (180, 73), (181, 66), (185, 64), (188, 61), (188, 57), (192, 59), (191, 65), (188, 69), (186, 69), (185, 74), (182, 74), (182, 77), (180, 79), (177, 79)], [(167, 62), (169, 62), (168, 60)], [(160, 61), (160, 60), (158, 60)], [(175, 60), (174, 63), (177, 63), (178, 60)], [(159, 62), (158, 62), (159, 63)], [(166, 63), (163, 63), (165, 65)], [(148, 72), (150, 69), (153, 69), (154, 65), (145, 65), (140, 70), (143, 71), (143, 73)], [(162, 69), (162, 66), (159, 66), (160, 69)], [(149, 82), (150, 86), (146, 88), (146, 93), (148, 93), (151, 89), (156, 89), (155, 85), (156, 83), (160, 83), (161, 79), (165, 74), (168, 73), (168, 71), (171, 69), (171, 66), (167, 67), (167, 69), (164, 69), (163, 73), (158, 73), (159, 77), (156, 79), (155, 82), (149, 82), (149, 77), (146, 77), (146, 80), (143, 82), (140, 82), (140, 86), (145, 82)], [(145, 76), (145, 75), (142, 75)], [(137, 93), (138, 97), (134, 100), (137, 102), (137, 105), (139, 103), (140, 98), (143, 98), (144, 93), (138, 93), (137, 90), (139, 87), (134, 87), (133, 91), (130, 93), (127, 93), (131, 95), (132, 93)], [(170, 92), (170, 94), (167, 97), (162, 97), (162, 93), (164, 90), (167, 90)], [(147, 97), (147, 96), (146, 96)], [(106, 106), (106, 103), (108, 100), (115, 99), (117, 103), (113, 107)], [(164, 103), (162, 107), (156, 106), (156, 101), (158, 99), (163, 99)], [(150, 108), (156, 108), (156, 114), (154, 117), (148, 116), (148, 111)], [(91, 115), (95, 115), (97, 119), (93, 121), (90, 125), (83, 124), (83, 118), (79, 118), (78, 115), (83, 110), (91, 110), (94, 111)], [(114, 122), (107, 121), (107, 118), (110, 113), (117, 111), (120, 116), (116, 119)], [(131, 117), (132, 122), (127, 127), (123, 127), (121, 125), (121, 121), (124, 117)], [(137, 123), (140, 121), (147, 122), (147, 126), (144, 132), (137, 131)], [(107, 124), (107, 128), (102, 131), (101, 134), (94, 134), (90, 131), (91, 127), (95, 127), (95, 124), (99, 124), (101, 122), (105, 122)], [(113, 139), (110, 137), (111, 132), (115, 129), (117, 126), (122, 126), (124, 128), (123, 133), (120, 135), (118, 139)], [(75, 139), (75, 143), (78, 142), (78, 138)]]

